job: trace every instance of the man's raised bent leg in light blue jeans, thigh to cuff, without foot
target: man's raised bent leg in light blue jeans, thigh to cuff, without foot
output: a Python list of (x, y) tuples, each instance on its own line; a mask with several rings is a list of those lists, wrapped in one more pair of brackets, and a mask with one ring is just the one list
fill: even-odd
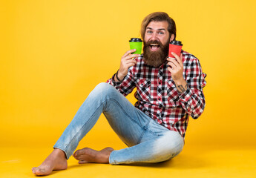
[[(90, 93), (53, 147), (65, 151), (68, 159), (79, 141), (96, 124), (101, 113), (105, 114), (111, 127), (121, 139), (126, 141), (127, 137), (130, 138), (129, 141), (127, 140), (128, 145), (136, 145), (139, 142), (144, 132), (143, 127), (151, 120), (113, 86), (101, 83)], [(131, 125), (132, 127), (128, 127)]]

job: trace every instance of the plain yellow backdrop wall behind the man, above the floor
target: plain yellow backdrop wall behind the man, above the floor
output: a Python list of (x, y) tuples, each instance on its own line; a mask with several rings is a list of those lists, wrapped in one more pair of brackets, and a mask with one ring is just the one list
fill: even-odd
[[(165, 11), (207, 73), (206, 109), (190, 119), (186, 144), (255, 147), (255, 4), (1, 1), (0, 145), (51, 147), (90, 91), (116, 72), (142, 19)], [(82, 142), (121, 144), (103, 116)]]

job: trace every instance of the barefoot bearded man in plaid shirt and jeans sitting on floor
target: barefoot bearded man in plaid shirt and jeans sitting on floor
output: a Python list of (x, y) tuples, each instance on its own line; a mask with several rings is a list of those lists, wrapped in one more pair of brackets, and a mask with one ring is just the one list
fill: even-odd
[[(33, 174), (47, 175), (68, 167), (74, 156), (79, 164), (111, 165), (163, 162), (183, 150), (188, 117), (197, 119), (205, 108), (206, 74), (199, 60), (182, 50), (168, 58), (168, 44), (176, 38), (176, 26), (167, 13), (151, 13), (142, 22), (143, 54), (128, 50), (119, 70), (93, 89), (70, 125), (53, 146), (53, 152)], [(125, 98), (137, 88), (134, 105)], [(93, 128), (101, 113), (128, 148), (76, 151), (79, 141)]]

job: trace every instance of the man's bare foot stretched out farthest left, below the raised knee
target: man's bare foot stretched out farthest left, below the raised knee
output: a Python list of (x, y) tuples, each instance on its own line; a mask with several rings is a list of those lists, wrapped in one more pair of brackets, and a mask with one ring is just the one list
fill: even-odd
[(64, 170), (67, 169), (67, 167), (68, 162), (65, 152), (55, 148), (39, 167), (32, 168), (32, 172), (38, 176), (45, 176), (49, 175), (53, 170)]

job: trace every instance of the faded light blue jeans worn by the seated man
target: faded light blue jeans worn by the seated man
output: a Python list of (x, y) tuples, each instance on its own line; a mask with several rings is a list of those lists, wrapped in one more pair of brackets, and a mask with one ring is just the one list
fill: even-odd
[(111, 152), (109, 163), (112, 165), (163, 162), (183, 149), (184, 142), (179, 133), (159, 125), (107, 83), (94, 88), (53, 148), (64, 151), (68, 159), (101, 113), (128, 145), (128, 148)]

